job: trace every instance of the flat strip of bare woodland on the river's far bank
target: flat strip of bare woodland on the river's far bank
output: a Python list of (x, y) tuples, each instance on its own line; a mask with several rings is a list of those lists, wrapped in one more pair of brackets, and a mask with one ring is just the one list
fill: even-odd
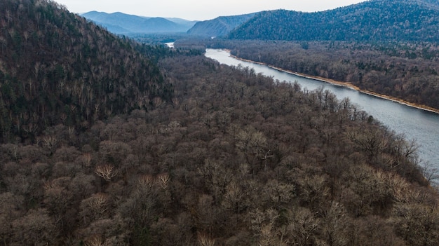
[(228, 48), (232, 55), (439, 109), (438, 43), (180, 41)]

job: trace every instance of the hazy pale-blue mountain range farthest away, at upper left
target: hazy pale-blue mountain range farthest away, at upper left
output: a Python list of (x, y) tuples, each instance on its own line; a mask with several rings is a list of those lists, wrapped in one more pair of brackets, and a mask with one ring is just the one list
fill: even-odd
[(180, 18), (149, 18), (120, 12), (91, 11), (83, 13), (82, 16), (115, 34), (187, 32), (196, 23)]

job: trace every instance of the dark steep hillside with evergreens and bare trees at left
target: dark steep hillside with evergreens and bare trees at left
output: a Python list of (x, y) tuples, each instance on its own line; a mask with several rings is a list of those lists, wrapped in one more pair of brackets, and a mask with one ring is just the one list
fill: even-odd
[(88, 128), (172, 97), (137, 44), (53, 1), (1, 0), (0, 25), (0, 142), (59, 123)]

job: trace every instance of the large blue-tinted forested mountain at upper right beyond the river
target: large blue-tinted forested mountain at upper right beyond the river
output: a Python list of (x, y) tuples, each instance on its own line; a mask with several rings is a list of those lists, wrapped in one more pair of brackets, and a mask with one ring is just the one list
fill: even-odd
[(330, 11), (264, 11), (229, 39), (439, 41), (438, 1), (371, 0)]

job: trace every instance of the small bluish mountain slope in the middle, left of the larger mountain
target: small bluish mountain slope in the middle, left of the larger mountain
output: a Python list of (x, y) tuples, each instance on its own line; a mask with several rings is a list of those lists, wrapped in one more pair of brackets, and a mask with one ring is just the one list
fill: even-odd
[(250, 20), (256, 13), (247, 15), (220, 16), (213, 20), (197, 22), (194, 27), (187, 31), (188, 34), (199, 36), (224, 36), (231, 30)]

